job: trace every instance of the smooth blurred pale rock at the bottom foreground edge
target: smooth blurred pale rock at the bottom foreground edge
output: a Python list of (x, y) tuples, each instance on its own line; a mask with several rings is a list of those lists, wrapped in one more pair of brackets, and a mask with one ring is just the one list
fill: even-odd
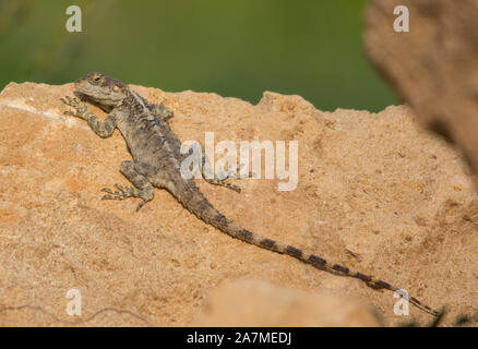
[(303, 292), (258, 280), (213, 290), (196, 326), (382, 326), (373, 309), (328, 292)]

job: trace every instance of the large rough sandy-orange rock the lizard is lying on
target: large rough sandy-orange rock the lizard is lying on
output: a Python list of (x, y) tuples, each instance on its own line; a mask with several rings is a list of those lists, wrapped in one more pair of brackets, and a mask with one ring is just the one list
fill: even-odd
[[(231, 219), (360, 268), (430, 306), (447, 305), (445, 324), (477, 311), (473, 181), (461, 155), (422, 131), (409, 108), (322, 112), (299, 96), (268, 92), (253, 106), (133, 88), (176, 112), (171, 128), (183, 141), (203, 143), (205, 131), (216, 143), (299, 141), (295, 191), (277, 191), (278, 180), (235, 180), (241, 194), (198, 181)], [(130, 155), (117, 132), (103, 140), (62, 116), (59, 97), (71, 94), (71, 84), (11, 83), (0, 95), (0, 325), (191, 325), (216, 287), (241, 278), (298, 298), (350, 297), (377, 308), (389, 325), (430, 321), (413, 306), (409, 316), (394, 315), (391, 292), (231, 239), (165, 191), (139, 213), (134, 200), (101, 201), (101, 188), (127, 183), (118, 168)], [(82, 296), (81, 316), (67, 314), (72, 288)]]

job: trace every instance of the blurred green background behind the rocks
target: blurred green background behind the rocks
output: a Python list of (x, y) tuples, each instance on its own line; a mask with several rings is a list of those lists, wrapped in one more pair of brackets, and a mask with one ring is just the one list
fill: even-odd
[[(298, 94), (321, 110), (397, 104), (362, 51), (366, 0), (0, 0), (0, 88), (100, 71), (253, 104)], [(69, 33), (65, 10), (82, 9)]]

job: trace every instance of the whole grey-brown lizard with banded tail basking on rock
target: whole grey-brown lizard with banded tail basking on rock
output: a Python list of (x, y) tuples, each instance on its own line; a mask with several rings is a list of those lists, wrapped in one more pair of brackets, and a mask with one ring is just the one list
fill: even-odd
[[(145, 203), (153, 200), (154, 188), (164, 189), (199, 219), (232, 238), (288, 255), (321, 270), (360, 279), (374, 289), (385, 289), (393, 292), (401, 290), (370, 275), (330, 262), (313, 252), (262, 237), (240, 227), (219, 213), (201, 193), (192, 179), (184, 179), (181, 176), (180, 166), (186, 155), (181, 154), (181, 142), (168, 122), (174, 117), (174, 112), (163, 103), (159, 105), (150, 104), (127, 84), (98, 72), (75, 81), (74, 88), (80, 99), (100, 107), (108, 112), (108, 117), (101, 121), (89, 110), (86, 103), (70, 96), (60, 98), (62, 103), (74, 109), (67, 110), (64, 113), (86, 120), (89, 128), (104, 139), (111, 136), (118, 129), (132, 156), (132, 160), (121, 163), (120, 172), (133, 185), (115, 184), (116, 190), (104, 188), (101, 190), (106, 192), (103, 196), (104, 200), (138, 197), (141, 198), (136, 206), (136, 210), (139, 210)], [(238, 186), (226, 183), (224, 179), (203, 177), (212, 184), (240, 192)], [(434, 316), (439, 315), (438, 311), (423, 304), (415, 297), (408, 297), (408, 300), (420, 310)]]

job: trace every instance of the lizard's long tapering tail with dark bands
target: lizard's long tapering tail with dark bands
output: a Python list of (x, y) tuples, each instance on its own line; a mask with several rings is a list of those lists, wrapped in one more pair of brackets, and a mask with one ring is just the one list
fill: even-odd
[[(299, 260), (303, 263), (310, 264), (315, 268), (322, 270), (330, 270), (343, 276), (354, 277), (362, 280), (368, 286), (374, 289), (386, 289), (390, 291), (397, 291), (399, 294), (403, 294), (402, 289), (395, 287), (389, 282), (385, 282), (381, 279), (377, 279), (370, 275), (362, 274), (358, 270), (354, 270), (349, 267), (343, 266), (337, 263), (332, 263), (326, 261), (325, 258), (318, 256), (309, 251), (298, 249), (279, 241), (271, 240), (264, 238), (258, 233), (249, 231), (227, 217), (220, 214), (208, 201), (205, 198), (199, 189), (194, 185), (193, 182), (183, 183), (186, 186), (181, 190), (181, 195), (177, 196), (178, 201), (192, 214), (194, 214), (198, 218), (202, 219), (206, 224), (219, 229), (220, 231), (229, 234), (232, 238), (242, 240), (247, 243), (254, 244), (259, 248), (270, 250), (276, 253), (289, 255), (296, 260)], [(178, 188), (178, 186), (176, 186)], [(405, 297), (405, 296), (404, 296)], [(420, 310), (438, 316), (440, 312), (431, 309), (430, 306), (421, 303), (415, 297), (408, 297), (408, 301)]]

